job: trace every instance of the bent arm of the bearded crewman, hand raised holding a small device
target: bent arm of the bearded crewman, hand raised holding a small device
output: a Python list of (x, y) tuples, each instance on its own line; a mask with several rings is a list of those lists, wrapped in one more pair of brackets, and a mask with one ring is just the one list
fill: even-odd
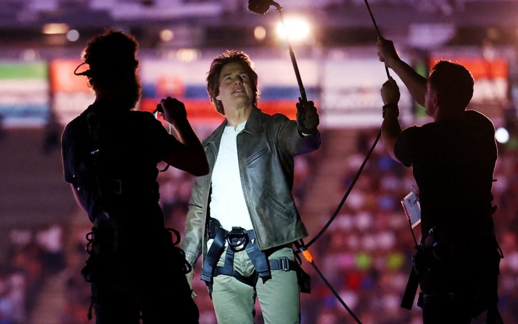
[(175, 136), (181, 145), (174, 153), (169, 154), (164, 161), (195, 176), (209, 173), (209, 164), (202, 143), (192, 129), (187, 112), (182, 102), (176, 98), (167, 97), (157, 106), (164, 119), (172, 125)]

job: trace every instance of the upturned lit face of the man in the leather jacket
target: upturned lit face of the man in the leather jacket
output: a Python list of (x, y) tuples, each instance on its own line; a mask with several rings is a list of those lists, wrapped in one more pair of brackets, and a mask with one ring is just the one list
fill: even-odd
[(255, 95), (247, 69), (238, 62), (225, 64), (221, 69), (219, 91), (216, 99), (225, 111), (251, 106)]

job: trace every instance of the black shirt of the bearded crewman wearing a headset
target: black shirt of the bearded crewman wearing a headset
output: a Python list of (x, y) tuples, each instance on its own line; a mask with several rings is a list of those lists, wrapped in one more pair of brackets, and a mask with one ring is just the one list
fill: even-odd
[[(95, 112), (99, 121), (98, 140), (94, 140), (89, 132), (89, 112)], [(95, 180), (98, 175), (103, 184), (108, 184), (104, 191), (111, 194), (113, 190), (122, 189), (120, 196), (109, 199), (111, 212), (155, 214), (154, 222), (160, 225), (163, 224), (163, 216), (156, 195), (151, 194), (151, 191), (157, 193), (158, 190), (157, 163), (178, 145), (178, 140), (169, 135), (150, 112), (103, 107), (103, 104), (95, 103), (69, 122), (63, 132), (65, 181), (79, 187), (80, 197), (92, 222), (100, 210), (106, 209), (99, 199)], [(99, 148), (95, 161), (90, 153), (94, 146)], [(123, 199), (119, 199), (121, 196)]]

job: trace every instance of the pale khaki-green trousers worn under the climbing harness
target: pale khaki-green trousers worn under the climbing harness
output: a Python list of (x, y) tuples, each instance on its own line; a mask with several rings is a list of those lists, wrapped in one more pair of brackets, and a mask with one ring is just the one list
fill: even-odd
[[(226, 250), (218, 266), (223, 266), (225, 256)], [(284, 247), (272, 253), (269, 259), (283, 257), (293, 261), (293, 249)], [(254, 266), (245, 250), (235, 253), (234, 269), (247, 277), (253, 273)], [(218, 324), (254, 323), (256, 297), (265, 324), (300, 323), (300, 290), (295, 270), (272, 270), (271, 278), (265, 283), (258, 278), (255, 288), (241, 283), (233, 276), (219, 275), (213, 278), (212, 302)]]

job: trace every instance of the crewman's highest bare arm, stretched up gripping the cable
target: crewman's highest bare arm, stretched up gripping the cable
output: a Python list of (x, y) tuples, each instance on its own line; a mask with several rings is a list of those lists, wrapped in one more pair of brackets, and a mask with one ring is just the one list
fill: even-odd
[(424, 106), (426, 78), (415, 72), (410, 65), (399, 58), (392, 40), (378, 37), (378, 57), (381, 62), (385, 62), (385, 65), (401, 78), (414, 100)]

